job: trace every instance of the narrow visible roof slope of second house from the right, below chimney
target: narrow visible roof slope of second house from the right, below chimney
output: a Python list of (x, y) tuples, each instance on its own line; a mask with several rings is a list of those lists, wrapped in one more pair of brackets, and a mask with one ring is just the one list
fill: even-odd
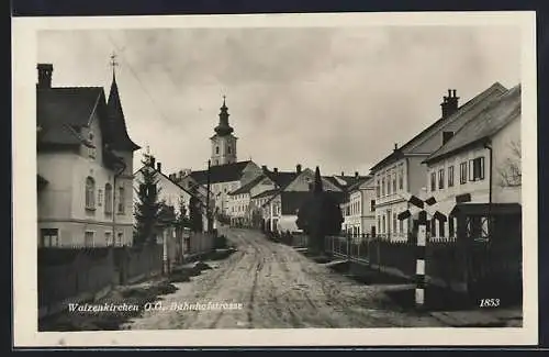
[(389, 154), (386, 157), (384, 157), (381, 161), (376, 164), (370, 169), (370, 171), (376, 171), (383, 166), (390, 165), (390, 164), (401, 159), (406, 154), (408, 154), (408, 152), (411, 149), (413, 149), (421, 142), (423, 142), (429, 134), (432, 134), (436, 130), (439, 130), (440, 126), (444, 126), (444, 124), (452, 122), (453, 120), (456, 120), (457, 118), (460, 118), (461, 115), (467, 115), (471, 108), (474, 108), (477, 104), (481, 103), (483, 100), (490, 98), (491, 96), (503, 94), (506, 90), (507, 89), (505, 87), (503, 87), (500, 82), (493, 83), (488, 89), (485, 89), (481, 93), (477, 94), (475, 97), (470, 99), (464, 104), (460, 105), (458, 108), (458, 110), (456, 112), (453, 112), (451, 115), (441, 116), (436, 122), (434, 122), (433, 124), (430, 124), (429, 126), (424, 129), (422, 132), (419, 132), (417, 135), (412, 137), (408, 142), (406, 142), (400, 148), (394, 149), (391, 154)]

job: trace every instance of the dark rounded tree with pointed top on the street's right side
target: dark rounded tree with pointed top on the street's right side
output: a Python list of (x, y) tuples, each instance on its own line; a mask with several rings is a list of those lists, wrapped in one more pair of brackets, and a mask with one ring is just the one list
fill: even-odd
[(311, 250), (323, 254), (324, 237), (339, 234), (343, 221), (336, 198), (323, 189), (321, 170), (317, 166), (313, 191), (300, 208), (295, 224), (310, 237)]

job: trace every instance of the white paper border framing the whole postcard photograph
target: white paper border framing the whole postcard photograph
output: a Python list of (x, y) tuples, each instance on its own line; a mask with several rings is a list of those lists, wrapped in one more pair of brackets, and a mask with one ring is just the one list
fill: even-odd
[[(249, 14), (127, 18), (14, 18), (13, 316), (14, 346), (418, 346), (538, 343), (537, 103), (535, 12)], [(522, 328), (345, 328), (38, 333), (36, 309), (35, 67), (40, 30), (376, 25), (517, 25), (522, 31), (523, 269)], [(505, 60), (505, 58), (502, 58)], [(213, 338), (215, 337), (215, 338)]]

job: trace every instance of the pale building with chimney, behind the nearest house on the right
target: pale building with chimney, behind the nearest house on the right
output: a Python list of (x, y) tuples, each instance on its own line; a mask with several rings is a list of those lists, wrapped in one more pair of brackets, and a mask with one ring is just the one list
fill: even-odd
[(449, 90), (441, 103), (441, 118), (401, 147), (395, 144), (394, 150), (371, 168), (378, 235), (388, 239), (407, 239), (408, 220), (400, 221), (397, 215), (408, 209), (405, 192), (419, 194), (425, 189), (427, 167), (422, 161), (505, 92), (506, 89), (496, 82), (459, 107), (456, 90)]

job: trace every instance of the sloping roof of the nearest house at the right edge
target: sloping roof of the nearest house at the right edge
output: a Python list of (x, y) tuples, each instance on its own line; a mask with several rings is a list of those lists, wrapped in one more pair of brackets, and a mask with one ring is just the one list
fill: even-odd
[(451, 156), (468, 146), (492, 137), (511, 121), (520, 115), (520, 85), (513, 87), (490, 103), (479, 115), (464, 124), (424, 163), (432, 164)]

